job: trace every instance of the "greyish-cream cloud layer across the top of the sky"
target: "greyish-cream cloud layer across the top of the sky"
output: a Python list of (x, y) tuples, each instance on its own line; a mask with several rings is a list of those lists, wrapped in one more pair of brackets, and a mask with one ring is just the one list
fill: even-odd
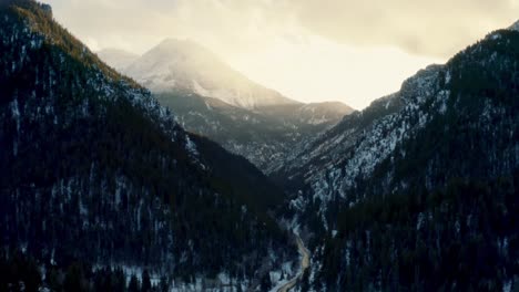
[[(50, 0), (65, 24), (101, 46), (164, 36), (262, 50), (279, 34), (448, 56), (519, 15), (517, 0)], [(92, 15), (95, 19), (92, 19)], [(101, 33), (100, 33), (101, 32)], [(128, 41), (123, 41), (128, 39)], [(220, 48), (223, 50), (223, 48)]]

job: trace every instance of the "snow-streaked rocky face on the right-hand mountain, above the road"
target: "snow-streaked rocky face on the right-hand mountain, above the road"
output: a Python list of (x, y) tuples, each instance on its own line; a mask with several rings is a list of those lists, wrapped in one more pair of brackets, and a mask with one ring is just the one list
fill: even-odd
[(416, 129), (423, 114), (416, 109), (425, 103), (421, 96), (437, 91), (436, 79), (440, 70), (437, 65), (429, 66), (406, 81), (399, 93), (377, 100), (363, 112), (346, 116), (327, 133), (302, 145), (287, 161), (279, 164), (278, 173), (288, 175), (289, 180), (306, 182), (314, 175), (324, 175), (323, 169), (347, 164), (344, 166), (348, 171), (345, 176), (352, 187), (356, 177), (368, 176), (404, 135)]

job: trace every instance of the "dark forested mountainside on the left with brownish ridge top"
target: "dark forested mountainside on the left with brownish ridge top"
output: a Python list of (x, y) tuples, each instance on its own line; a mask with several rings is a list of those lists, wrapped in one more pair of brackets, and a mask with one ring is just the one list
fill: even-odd
[(244, 285), (292, 257), (267, 216), (283, 194), (245, 159), (184, 132), (49, 7), (2, 2), (0, 32), (2, 254), (170, 280), (224, 273)]

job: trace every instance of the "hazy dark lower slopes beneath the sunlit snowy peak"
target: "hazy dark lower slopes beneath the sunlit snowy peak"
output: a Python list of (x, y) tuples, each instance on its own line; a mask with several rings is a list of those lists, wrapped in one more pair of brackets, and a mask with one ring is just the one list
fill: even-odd
[(273, 106), (248, 111), (189, 91), (155, 95), (187, 131), (218, 142), (264, 173), (283, 161), (301, 140), (332, 127), (349, 107), (328, 104)]

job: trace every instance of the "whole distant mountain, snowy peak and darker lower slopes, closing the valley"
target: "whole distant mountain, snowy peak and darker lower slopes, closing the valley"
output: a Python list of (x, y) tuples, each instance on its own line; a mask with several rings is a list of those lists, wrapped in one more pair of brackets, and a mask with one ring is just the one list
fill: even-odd
[(289, 100), (193, 41), (165, 40), (138, 59), (121, 50), (98, 55), (149, 87), (187, 131), (218, 142), (265, 173), (302, 139), (354, 112), (338, 102)]

